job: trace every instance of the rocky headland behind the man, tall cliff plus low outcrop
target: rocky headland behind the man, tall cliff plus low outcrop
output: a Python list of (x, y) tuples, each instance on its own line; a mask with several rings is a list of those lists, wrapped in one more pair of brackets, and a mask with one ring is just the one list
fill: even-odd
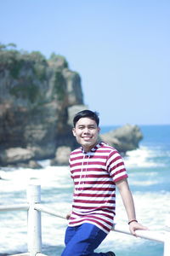
[[(38, 168), (36, 160), (47, 158), (54, 159), (52, 165), (67, 165), (77, 147), (71, 120), (86, 108), (81, 78), (63, 56), (46, 60), (40, 52), (0, 44), (0, 166)], [(138, 147), (135, 129), (126, 129), (126, 139), (125, 130), (101, 137), (126, 152)]]

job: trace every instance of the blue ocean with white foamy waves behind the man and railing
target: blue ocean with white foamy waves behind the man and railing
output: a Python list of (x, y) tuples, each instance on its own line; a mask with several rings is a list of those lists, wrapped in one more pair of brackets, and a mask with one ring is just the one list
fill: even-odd
[[(114, 126), (103, 126), (101, 132)], [(170, 226), (170, 125), (141, 125), (144, 139), (139, 148), (124, 157), (128, 182), (133, 192), (139, 223), (150, 230), (167, 230)], [(71, 210), (72, 181), (68, 166), (49, 166), (42, 160), (42, 169), (1, 168), (0, 205), (26, 202), (30, 182), (41, 184), (42, 203), (49, 209), (66, 214)], [(27, 251), (26, 211), (0, 212), (0, 255)], [(122, 200), (116, 195), (117, 224), (127, 224)], [(42, 253), (59, 256), (64, 248), (65, 219), (42, 213)], [(161, 242), (148, 241), (111, 231), (96, 252), (114, 251), (116, 256), (161, 256)]]

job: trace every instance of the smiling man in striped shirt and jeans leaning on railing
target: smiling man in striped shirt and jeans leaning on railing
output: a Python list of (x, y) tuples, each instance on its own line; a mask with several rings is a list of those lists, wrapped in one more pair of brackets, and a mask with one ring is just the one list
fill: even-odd
[(80, 148), (70, 155), (74, 195), (69, 224), (65, 232), (65, 249), (61, 256), (114, 256), (94, 253), (110, 232), (116, 214), (116, 186), (122, 196), (129, 229), (146, 230), (139, 224), (133, 196), (127, 183), (122, 156), (108, 144), (99, 142), (99, 116), (90, 110), (77, 113), (73, 119), (73, 135)]

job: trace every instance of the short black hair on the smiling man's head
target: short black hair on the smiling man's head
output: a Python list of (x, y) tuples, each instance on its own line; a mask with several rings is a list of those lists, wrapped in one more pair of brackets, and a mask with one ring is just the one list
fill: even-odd
[(80, 112), (78, 112), (73, 119), (73, 125), (74, 127), (77, 125), (77, 121), (82, 118), (89, 118), (93, 119), (96, 124), (99, 126), (99, 113), (93, 112), (91, 110), (85, 109)]

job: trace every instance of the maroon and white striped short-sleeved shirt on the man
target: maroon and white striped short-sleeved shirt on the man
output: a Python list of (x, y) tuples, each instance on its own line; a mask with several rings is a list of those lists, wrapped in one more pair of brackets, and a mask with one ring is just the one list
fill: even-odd
[(99, 143), (88, 153), (77, 148), (70, 156), (74, 195), (69, 226), (94, 224), (109, 233), (116, 208), (116, 182), (127, 177), (122, 156)]

